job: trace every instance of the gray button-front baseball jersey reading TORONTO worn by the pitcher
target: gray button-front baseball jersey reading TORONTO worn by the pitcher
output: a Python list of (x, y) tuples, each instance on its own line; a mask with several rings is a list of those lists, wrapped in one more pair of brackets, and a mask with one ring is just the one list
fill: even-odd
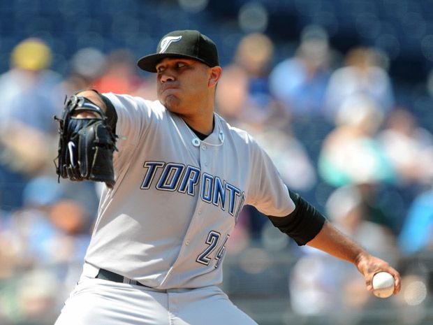
[(103, 190), (87, 263), (158, 289), (219, 284), (244, 204), (274, 216), (294, 210), (267, 154), (216, 113), (200, 140), (159, 101), (105, 96), (121, 137), (116, 185)]

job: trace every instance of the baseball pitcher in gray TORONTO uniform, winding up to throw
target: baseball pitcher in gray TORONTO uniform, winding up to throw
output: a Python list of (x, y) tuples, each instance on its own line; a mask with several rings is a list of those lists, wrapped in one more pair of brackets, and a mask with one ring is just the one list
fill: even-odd
[(57, 325), (256, 324), (219, 289), (226, 243), (246, 204), (298, 245), (353, 263), (371, 290), (399, 273), (287, 189), (248, 133), (214, 113), (221, 67), (199, 31), (163, 36), (138, 61), (158, 101), (79, 92), (59, 120), (59, 177), (105, 182), (82, 275)]

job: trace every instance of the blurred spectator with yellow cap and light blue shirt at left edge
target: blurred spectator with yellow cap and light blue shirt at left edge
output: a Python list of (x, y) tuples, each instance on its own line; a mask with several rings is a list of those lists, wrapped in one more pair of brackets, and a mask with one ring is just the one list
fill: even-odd
[(61, 112), (64, 92), (60, 75), (49, 70), (51, 60), (43, 41), (27, 38), (13, 49), (10, 70), (0, 75), (0, 203), (6, 210), (22, 204), (29, 178), (52, 168), (52, 117)]

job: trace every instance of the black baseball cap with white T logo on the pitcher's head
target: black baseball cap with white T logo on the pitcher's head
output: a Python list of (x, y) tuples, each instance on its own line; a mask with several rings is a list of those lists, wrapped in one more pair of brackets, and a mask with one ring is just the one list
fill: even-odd
[(186, 57), (219, 66), (217, 45), (200, 31), (171, 31), (161, 38), (156, 53), (138, 60), (137, 65), (145, 71), (156, 72), (156, 64), (165, 57)]

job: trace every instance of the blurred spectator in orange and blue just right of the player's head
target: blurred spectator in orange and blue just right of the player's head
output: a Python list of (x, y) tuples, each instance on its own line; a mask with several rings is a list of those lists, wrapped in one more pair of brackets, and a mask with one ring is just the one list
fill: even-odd
[(252, 126), (272, 118), (284, 124), (268, 85), (273, 53), (274, 44), (265, 34), (247, 34), (237, 44), (217, 88), (217, 112), (229, 123)]

